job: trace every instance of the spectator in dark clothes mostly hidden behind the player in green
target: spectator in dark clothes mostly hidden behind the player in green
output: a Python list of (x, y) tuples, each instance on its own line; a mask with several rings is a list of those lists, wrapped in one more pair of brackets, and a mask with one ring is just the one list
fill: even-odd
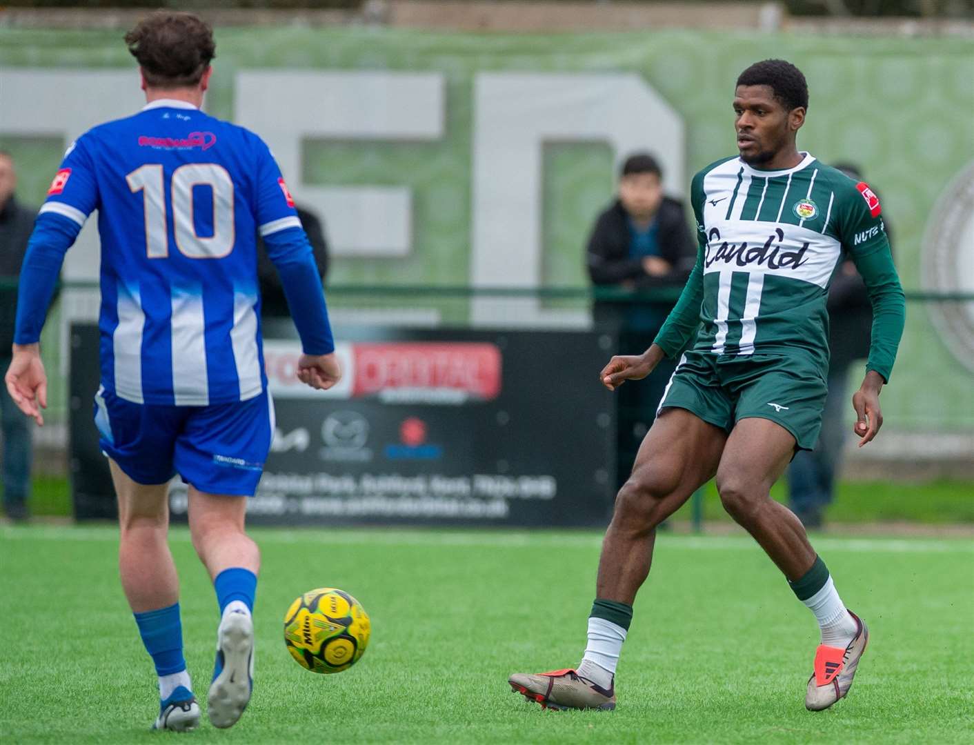
[[(862, 181), (859, 168), (838, 164), (835, 168)], [(893, 236), (883, 217), (890, 252)], [(846, 257), (836, 267), (829, 287), (829, 392), (822, 411), (822, 428), (814, 450), (801, 450), (788, 466), (788, 500), (805, 528), (821, 528), (825, 510), (836, 491), (836, 475), (843, 462), (846, 441), (845, 412), (848, 405), (848, 371), (857, 359), (869, 356), (873, 307), (866, 283)]]

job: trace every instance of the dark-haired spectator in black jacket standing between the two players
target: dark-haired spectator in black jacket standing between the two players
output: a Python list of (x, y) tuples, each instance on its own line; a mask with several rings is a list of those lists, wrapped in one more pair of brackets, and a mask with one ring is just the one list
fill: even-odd
[[(596, 287), (646, 293), (665, 285), (682, 286), (696, 258), (696, 242), (683, 205), (663, 194), (662, 169), (648, 153), (626, 158), (618, 197), (595, 222), (588, 239), (588, 276)], [(617, 331), (622, 354), (641, 354), (672, 310), (674, 301), (596, 300), (597, 326)], [(653, 375), (618, 393), (618, 473), (628, 474), (643, 435), (673, 372), (672, 360)], [(628, 390), (626, 390), (628, 389)]]

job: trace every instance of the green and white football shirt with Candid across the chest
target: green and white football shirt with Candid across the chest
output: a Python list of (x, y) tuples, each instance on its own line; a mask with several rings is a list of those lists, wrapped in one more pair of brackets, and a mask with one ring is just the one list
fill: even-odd
[(785, 170), (719, 161), (693, 177), (691, 201), (697, 263), (656, 343), (675, 355), (698, 326), (696, 352), (739, 359), (805, 350), (824, 370), (826, 299), (843, 252), (857, 263), (889, 253), (876, 195), (805, 153)]

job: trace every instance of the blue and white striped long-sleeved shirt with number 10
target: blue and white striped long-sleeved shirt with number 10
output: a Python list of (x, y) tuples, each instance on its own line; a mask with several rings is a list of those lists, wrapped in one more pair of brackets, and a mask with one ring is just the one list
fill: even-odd
[(24, 260), (19, 344), (39, 338), (50, 301), (41, 279), (50, 279), (54, 260), (59, 269), (95, 209), (106, 391), (135, 403), (205, 406), (264, 390), (258, 232), (305, 352), (334, 349), (311, 247), (267, 145), (169, 99), (68, 148)]

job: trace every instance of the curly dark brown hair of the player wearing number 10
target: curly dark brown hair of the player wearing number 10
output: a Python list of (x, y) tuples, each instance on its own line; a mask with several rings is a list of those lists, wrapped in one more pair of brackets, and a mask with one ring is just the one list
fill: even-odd
[(216, 56), (210, 25), (180, 11), (149, 14), (125, 35), (125, 43), (152, 88), (195, 86)]

